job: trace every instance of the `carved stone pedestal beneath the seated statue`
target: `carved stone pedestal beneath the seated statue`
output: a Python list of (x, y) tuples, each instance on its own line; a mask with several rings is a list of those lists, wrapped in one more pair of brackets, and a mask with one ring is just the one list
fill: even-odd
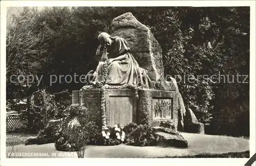
[[(159, 126), (162, 121), (170, 121), (178, 128), (178, 92), (143, 89), (138, 90), (139, 98), (131, 89), (106, 89), (106, 125), (124, 126), (131, 122)], [(78, 97), (79, 96), (79, 99)], [(100, 89), (73, 91), (73, 104), (83, 104), (101, 122)]]

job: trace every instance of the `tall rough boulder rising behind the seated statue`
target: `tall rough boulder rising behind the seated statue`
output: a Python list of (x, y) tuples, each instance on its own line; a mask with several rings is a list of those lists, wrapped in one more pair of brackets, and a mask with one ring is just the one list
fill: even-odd
[(150, 29), (140, 23), (132, 13), (124, 13), (113, 19), (115, 28), (111, 36), (124, 38), (131, 46), (131, 53), (140, 65), (148, 71), (151, 80), (164, 78), (162, 49)]

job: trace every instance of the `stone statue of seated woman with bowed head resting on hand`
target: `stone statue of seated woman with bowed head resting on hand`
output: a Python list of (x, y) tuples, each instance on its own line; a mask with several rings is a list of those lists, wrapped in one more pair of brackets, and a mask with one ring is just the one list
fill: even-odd
[(141, 86), (148, 87), (147, 71), (139, 67), (130, 52), (130, 45), (121, 37), (111, 37), (107, 33), (98, 36), (100, 45), (96, 55), (102, 53), (102, 59), (95, 71), (90, 71), (90, 84), (103, 79), (103, 64), (108, 63), (108, 76), (105, 84), (113, 86)]

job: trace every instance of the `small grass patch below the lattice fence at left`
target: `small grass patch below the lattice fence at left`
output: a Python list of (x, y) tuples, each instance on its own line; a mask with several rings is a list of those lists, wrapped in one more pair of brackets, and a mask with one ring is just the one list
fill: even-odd
[(29, 136), (36, 136), (37, 134), (31, 133), (6, 133), (6, 146), (25, 144)]

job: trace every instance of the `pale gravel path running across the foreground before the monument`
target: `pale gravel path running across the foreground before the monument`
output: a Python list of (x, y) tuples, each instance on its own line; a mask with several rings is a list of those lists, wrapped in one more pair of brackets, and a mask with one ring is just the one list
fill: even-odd
[[(174, 147), (135, 147), (135, 146), (87, 146), (85, 157), (166, 157), (166, 156), (185, 156), (197, 155), (202, 153), (220, 154), (228, 152), (243, 152), (249, 150), (249, 140), (238, 137), (205, 135), (194, 133), (181, 133), (188, 142), (188, 148)], [(17, 145), (18, 152), (40, 152), (44, 157), (76, 157), (75, 152), (60, 152), (54, 144), (45, 145)], [(7, 147), (11, 152), (11, 147)], [(54, 154), (56, 156), (54, 156)], [(15, 157), (19, 158), (19, 157)], [(28, 158), (28, 157), (26, 157)], [(30, 157), (29, 157), (30, 158)], [(33, 157), (34, 158), (34, 157)]]

